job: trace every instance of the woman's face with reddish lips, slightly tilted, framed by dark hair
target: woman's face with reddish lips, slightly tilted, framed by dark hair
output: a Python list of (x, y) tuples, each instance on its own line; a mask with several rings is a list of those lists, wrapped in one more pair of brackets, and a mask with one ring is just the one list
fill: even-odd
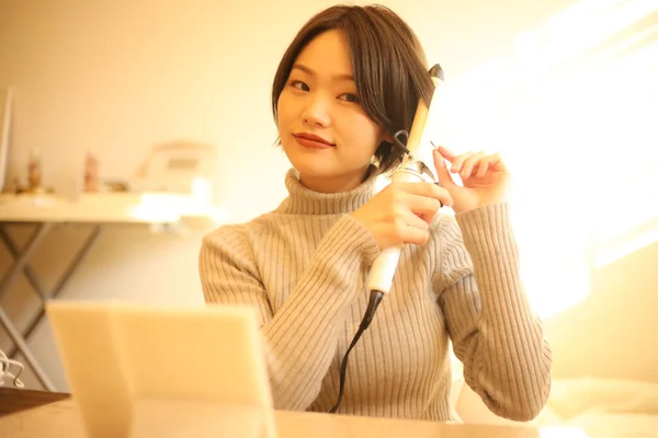
[(283, 149), (302, 184), (324, 193), (352, 189), (385, 130), (363, 111), (347, 39), (340, 31), (316, 36), (299, 53), (277, 102)]

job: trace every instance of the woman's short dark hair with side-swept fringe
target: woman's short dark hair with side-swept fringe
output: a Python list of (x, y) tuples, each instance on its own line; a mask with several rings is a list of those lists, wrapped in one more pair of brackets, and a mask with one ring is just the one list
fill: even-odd
[[(314, 15), (286, 49), (272, 85), (272, 112), (277, 122), (279, 96), (299, 53), (319, 34), (339, 30), (347, 38), (361, 105), (390, 136), (409, 132), (419, 100), (430, 105), (434, 85), (426, 54), (409, 25), (379, 5), (333, 5)], [(394, 170), (402, 152), (388, 141), (375, 151), (377, 173)]]

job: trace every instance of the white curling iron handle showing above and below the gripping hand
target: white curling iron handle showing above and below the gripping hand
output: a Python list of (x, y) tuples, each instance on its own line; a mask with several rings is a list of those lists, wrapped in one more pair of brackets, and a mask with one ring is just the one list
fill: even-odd
[[(392, 182), (394, 183), (420, 183), (422, 181), (422, 175), (412, 169), (412, 166), (406, 166), (405, 163), (392, 176)], [(401, 251), (402, 245), (396, 245), (387, 247), (379, 253), (370, 270), (367, 290), (378, 290), (386, 295), (390, 292), (393, 277), (397, 270)]]

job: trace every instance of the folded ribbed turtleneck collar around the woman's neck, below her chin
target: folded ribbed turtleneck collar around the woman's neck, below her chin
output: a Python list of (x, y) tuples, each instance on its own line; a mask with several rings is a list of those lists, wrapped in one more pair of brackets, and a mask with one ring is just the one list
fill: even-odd
[(354, 211), (374, 194), (377, 180), (374, 170), (371, 169), (368, 177), (351, 191), (319, 193), (302, 185), (299, 174), (295, 169), (291, 169), (285, 176), (285, 186), (290, 195), (276, 211), (288, 215), (341, 215)]

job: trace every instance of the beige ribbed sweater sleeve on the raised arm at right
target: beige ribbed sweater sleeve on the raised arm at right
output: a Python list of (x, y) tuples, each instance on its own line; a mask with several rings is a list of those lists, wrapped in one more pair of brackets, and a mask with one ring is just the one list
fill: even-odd
[(524, 293), (507, 204), (442, 219), (440, 304), (464, 380), (496, 415), (534, 418), (552, 351)]

